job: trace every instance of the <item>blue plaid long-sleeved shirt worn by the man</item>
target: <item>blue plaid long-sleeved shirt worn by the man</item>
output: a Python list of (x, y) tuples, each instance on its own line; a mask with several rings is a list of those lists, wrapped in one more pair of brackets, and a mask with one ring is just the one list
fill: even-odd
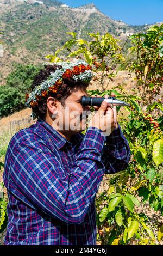
[(95, 197), (104, 173), (128, 166), (120, 126), (104, 137), (95, 127), (68, 142), (38, 119), (18, 131), (5, 156), (9, 203), (5, 245), (96, 245)]

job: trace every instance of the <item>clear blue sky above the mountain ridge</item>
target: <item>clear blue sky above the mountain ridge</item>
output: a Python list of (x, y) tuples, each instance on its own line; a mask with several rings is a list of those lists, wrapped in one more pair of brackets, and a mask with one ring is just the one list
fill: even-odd
[(163, 0), (61, 0), (61, 2), (71, 7), (94, 3), (105, 15), (131, 25), (163, 21)]

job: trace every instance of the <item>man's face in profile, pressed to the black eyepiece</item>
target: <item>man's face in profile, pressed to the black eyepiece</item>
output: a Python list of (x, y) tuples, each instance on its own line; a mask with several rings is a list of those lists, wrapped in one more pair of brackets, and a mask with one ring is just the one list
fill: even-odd
[(65, 105), (62, 106), (61, 103), (58, 105), (58, 114), (53, 125), (57, 124), (60, 132), (72, 135), (86, 129), (86, 118), (90, 108), (83, 107), (81, 104), (84, 95), (87, 96), (85, 90), (74, 88), (71, 95), (65, 100)]

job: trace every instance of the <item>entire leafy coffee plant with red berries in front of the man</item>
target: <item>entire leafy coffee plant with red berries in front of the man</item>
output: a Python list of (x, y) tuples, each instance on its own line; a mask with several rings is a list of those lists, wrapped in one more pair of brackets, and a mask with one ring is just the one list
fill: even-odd
[[(117, 99), (130, 103), (130, 107), (117, 107), (120, 113), (118, 123), (128, 139), (131, 160), (124, 172), (106, 175), (109, 189), (97, 195), (97, 244), (98, 245), (158, 245), (162, 240), (163, 225), (156, 218), (153, 222), (147, 215), (154, 212), (163, 214), (162, 161), (163, 161), (163, 117), (162, 98), (162, 40), (163, 26), (149, 28), (146, 33), (131, 36), (133, 47), (130, 54), (136, 58), (128, 66), (130, 74), (135, 74), (132, 95), (121, 84), (111, 90), (109, 82), (116, 76), (116, 64), (122, 57), (122, 48), (109, 33), (90, 34), (92, 40), (72, 39), (55, 52), (46, 56), (51, 62), (58, 62), (61, 51), (67, 50), (71, 57), (86, 60), (95, 73), (93, 81), (98, 82), (97, 90), (91, 95), (114, 93)], [(75, 50), (74, 50), (75, 47)], [(130, 75), (131, 76), (131, 75)], [(105, 81), (108, 81), (107, 83)], [(100, 85), (100, 86), (99, 86)]]

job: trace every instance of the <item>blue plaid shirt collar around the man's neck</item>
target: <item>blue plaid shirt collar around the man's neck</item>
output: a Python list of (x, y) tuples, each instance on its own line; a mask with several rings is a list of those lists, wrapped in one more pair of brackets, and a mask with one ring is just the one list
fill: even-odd
[[(53, 137), (53, 143), (55, 144), (55, 147), (57, 147), (57, 149), (61, 149), (62, 147), (64, 147), (64, 145), (67, 143), (69, 145), (72, 145), (73, 144), (79, 144), (80, 142), (80, 139), (77, 138), (78, 135), (72, 135), (71, 137), (71, 142), (70, 141), (67, 141), (66, 138), (62, 137), (60, 135), (60, 133), (55, 130), (51, 125), (49, 125), (45, 120), (39, 118), (37, 121), (36, 121), (36, 125), (38, 125), (41, 130), (45, 130), (46, 132), (46, 135), (48, 135), (49, 137)], [(79, 136), (80, 137), (80, 136)]]

